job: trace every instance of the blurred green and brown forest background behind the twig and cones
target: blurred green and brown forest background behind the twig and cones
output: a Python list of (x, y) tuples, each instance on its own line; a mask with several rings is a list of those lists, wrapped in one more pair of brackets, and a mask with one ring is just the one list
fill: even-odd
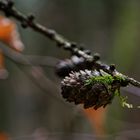
[[(15, 0), (15, 6), (26, 15), (34, 13), (36, 21), (69, 40), (85, 44), (93, 53), (100, 53), (105, 63), (114, 63), (120, 72), (140, 80), (139, 0)], [(58, 59), (70, 57), (49, 39), (17, 24), (25, 44), (24, 54)], [(52, 92), (57, 92), (62, 98), (58, 90), (61, 79), (54, 68), (43, 67), (46, 78), (52, 83), (46, 85), (46, 93), (24, 73), (24, 67), (20, 69), (9, 59), (6, 59), (6, 67), (9, 77), (0, 80), (1, 133), (13, 139), (32, 139), (30, 136), (33, 135), (40, 136), (42, 139), (39, 137), (39, 140), (49, 139), (47, 137), (62, 139), (65, 135), (77, 134), (85, 140), (93, 139), (96, 133), (107, 139), (140, 139), (138, 108), (122, 108), (115, 99), (103, 113), (106, 117), (102, 134), (95, 128), (100, 129), (102, 124), (95, 126), (90, 123), (81, 107), (64, 104), (51, 96)], [(140, 91), (122, 90), (122, 93), (134, 106), (140, 105)], [(98, 113), (99, 116), (103, 114)]]

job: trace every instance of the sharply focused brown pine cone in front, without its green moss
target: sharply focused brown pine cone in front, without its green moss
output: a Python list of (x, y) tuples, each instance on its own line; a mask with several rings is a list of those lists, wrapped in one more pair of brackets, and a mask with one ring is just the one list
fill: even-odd
[(85, 81), (94, 76), (101, 76), (100, 72), (94, 70), (84, 70), (80, 72), (71, 72), (61, 82), (62, 96), (68, 102), (75, 104), (84, 104), (84, 108), (105, 107), (111, 103), (114, 94), (110, 86), (102, 82), (96, 82), (92, 85), (86, 85)]

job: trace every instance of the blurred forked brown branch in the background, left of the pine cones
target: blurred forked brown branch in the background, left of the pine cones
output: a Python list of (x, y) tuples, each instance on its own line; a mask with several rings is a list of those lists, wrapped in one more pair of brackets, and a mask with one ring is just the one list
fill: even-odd
[[(53, 63), (56, 63), (57, 59), (54, 58), (54, 62), (52, 60), (51, 62), (50, 59), (53, 59), (53, 58), (44, 56), (45, 61), (41, 62), (42, 59), (40, 58), (42, 58), (43, 56), (26, 56), (3, 45), (0, 45), (0, 49), (2, 49), (6, 57), (8, 57), (20, 69), (22, 69), (22, 71), (32, 80), (32, 82), (36, 84), (43, 92), (53, 97), (53, 99), (56, 99), (57, 101), (60, 101), (61, 103), (66, 104), (63, 101), (63, 99), (60, 98), (58, 94), (60, 93), (60, 89), (58, 88), (59, 86), (57, 86), (57, 84), (54, 84), (54, 82), (52, 82), (49, 78), (46, 77), (46, 74), (43, 68), (41, 68), (40, 66), (37, 66), (37, 65), (45, 65), (45, 66), (54, 67), (55, 65)], [(28, 68), (23, 67), (24, 65), (27, 65), (30, 67)]]

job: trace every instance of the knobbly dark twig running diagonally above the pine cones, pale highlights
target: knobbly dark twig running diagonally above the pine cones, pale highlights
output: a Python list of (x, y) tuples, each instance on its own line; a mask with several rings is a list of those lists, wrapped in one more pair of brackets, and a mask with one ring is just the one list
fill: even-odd
[(117, 72), (114, 66), (112, 67), (100, 63), (99, 61), (97, 61), (96, 56), (93, 57), (86, 51), (79, 49), (77, 44), (74, 44), (69, 40), (65, 39), (63, 36), (55, 32), (54, 30), (46, 28), (41, 24), (35, 22), (35, 17), (33, 15), (25, 16), (24, 14), (19, 12), (13, 5), (14, 3), (10, 0), (7, 1), (0, 0), (0, 10), (3, 11), (6, 16), (11, 16), (16, 20), (18, 20), (21, 23), (22, 27), (24, 28), (30, 27), (34, 31), (46, 36), (52, 41), (55, 41), (59, 47), (63, 47), (64, 49), (72, 52), (73, 54), (85, 58), (86, 61), (89, 61), (93, 64), (94, 68), (102, 69), (105, 72), (112, 75), (114, 75), (114, 71), (115, 71), (115, 74), (117, 73), (119, 75), (122, 75), (130, 84), (140, 88), (140, 82), (138, 82), (137, 80)]

